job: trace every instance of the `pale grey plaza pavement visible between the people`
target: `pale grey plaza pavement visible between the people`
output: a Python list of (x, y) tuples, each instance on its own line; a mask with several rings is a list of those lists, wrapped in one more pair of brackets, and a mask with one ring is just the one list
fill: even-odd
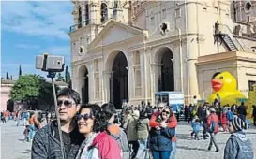
[[(31, 143), (23, 142), (23, 126), (17, 127), (14, 122), (0, 123), (1, 126), (1, 159), (29, 159)], [(220, 128), (221, 130), (221, 128)], [(176, 129), (178, 137), (176, 159), (221, 159), (225, 143), (230, 136), (228, 133), (219, 132), (217, 142), (220, 151), (207, 151), (208, 140), (194, 140), (190, 137), (191, 127), (188, 123), (181, 122)], [(253, 144), (256, 159), (256, 128), (248, 131)]]

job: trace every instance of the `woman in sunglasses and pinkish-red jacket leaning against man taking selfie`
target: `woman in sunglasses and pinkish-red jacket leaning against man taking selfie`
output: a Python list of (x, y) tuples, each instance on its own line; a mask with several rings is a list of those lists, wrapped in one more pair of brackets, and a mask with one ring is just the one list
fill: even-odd
[(106, 114), (94, 105), (81, 106), (77, 114), (79, 132), (83, 141), (76, 159), (121, 159), (118, 143), (109, 136)]

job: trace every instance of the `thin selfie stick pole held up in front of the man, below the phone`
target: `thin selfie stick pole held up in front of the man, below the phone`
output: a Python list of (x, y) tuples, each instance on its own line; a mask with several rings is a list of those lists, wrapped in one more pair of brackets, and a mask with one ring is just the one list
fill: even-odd
[(57, 123), (58, 123), (58, 130), (59, 130), (59, 137), (60, 137), (60, 147), (61, 147), (61, 152), (62, 152), (62, 158), (65, 159), (65, 151), (64, 151), (63, 137), (62, 137), (62, 131), (61, 131), (61, 123), (60, 123), (60, 118), (59, 118), (59, 111), (58, 111), (58, 106), (57, 106), (57, 97), (56, 97), (55, 86), (54, 86), (55, 74), (56, 74), (55, 72), (48, 72), (47, 77), (52, 79), (54, 108), (55, 108), (55, 113), (56, 113)]

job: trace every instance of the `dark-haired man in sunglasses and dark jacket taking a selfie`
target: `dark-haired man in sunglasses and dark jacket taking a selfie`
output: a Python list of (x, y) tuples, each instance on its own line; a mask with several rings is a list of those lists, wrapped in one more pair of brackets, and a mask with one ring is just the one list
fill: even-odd
[[(65, 88), (57, 94), (57, 109), (61, 123), (65, 159), (74, 159), (84, 140), (75, 121), (75, 115), (80, 108), (80, 101), (80, 95), (70, 88)], [(31, 158), (62, 159), (56, 121), (38, 130), (33, 140)]]

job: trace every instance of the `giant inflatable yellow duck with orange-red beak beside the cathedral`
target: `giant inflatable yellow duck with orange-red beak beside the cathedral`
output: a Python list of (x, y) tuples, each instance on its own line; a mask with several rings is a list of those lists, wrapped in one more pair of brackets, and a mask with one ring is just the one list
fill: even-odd
[(219, 73), (211, 82), (213, 94), (208, 97), (208, 101), (211, 104), (217, 99), (217, 94), (220, 96), (221, 106), (240, 104), (237, 103), (237, 99), (246, 98), (244, 94), (237, 90), (236, 79), (229, 72)]

